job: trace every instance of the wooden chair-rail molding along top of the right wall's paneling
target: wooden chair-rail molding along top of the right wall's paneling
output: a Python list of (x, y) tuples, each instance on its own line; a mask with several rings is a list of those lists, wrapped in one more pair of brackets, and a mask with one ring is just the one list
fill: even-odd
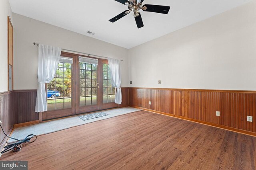
[(256, 93), (253, 90), (211, 90), (211, 89), (183, 89), (183, 88), (142, 88), (129, 87), (129, 89), (150, 89), (150, 90), (177, 90), (177, 91), (192, 91), (192, 92), (234, 92), (234, 93)]

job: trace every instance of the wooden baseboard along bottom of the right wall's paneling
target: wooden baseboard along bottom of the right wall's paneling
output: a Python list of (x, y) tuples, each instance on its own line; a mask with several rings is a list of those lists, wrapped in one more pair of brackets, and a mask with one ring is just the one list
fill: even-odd
[(188, 118), (188, 117), (182, 117), (182, 116), (178, 116), (178, 115), (164, 113), (164, 112), (161, 112), (161, 111), (146, 109), (146, 108), (143, 108), (143, 107), (138, 107), (138, 106), (130, 106), (130, 107), (134, 107), (134, 108), (137, 108), (137, 109), (143, 109), (145, 111), (150, 111), (150, 112), (158, 113), (158, 114), (161, 114), (161, 115), (167, 115), (167, 116), (175, 117), (175, 118), (178, 118), (178, 119), (183, 119), (183, 120), (187, 120), (187, 121), (201, 123), (201, 124), (204, 124), (204, 125), (208, 125), (208, 126), (212, 126), (212, 127), (218, 127), (220, 129), (225, 129), (225, 130), (228, 130), (228, 131), (233, 131), (233, 132), (242, 133), (242, 134), (245, 134), (245, 135), (250, 135), (250, 136), (256, 137), (255, 132), (245, 131), (245, 130), (237, 129), (237, 128), (234, 128), (234, 127), (228, 127), (228, 126), (224, 126), (224, 125), (218, 125), (218, 124), (215, 124), (215, 123), (209, 123), (209, 122), (205, 122), (205, 121), (191, 119), (191, 118)]

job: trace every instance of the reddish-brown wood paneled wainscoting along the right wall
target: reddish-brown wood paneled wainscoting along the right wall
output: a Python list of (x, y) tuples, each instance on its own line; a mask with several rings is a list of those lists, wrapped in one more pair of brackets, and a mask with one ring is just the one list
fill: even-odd
[[(256, 136), (255, 91), (129, 88), (129, 104)], [(247, 115), (253, 116), (253, 122), (247, 121)]]

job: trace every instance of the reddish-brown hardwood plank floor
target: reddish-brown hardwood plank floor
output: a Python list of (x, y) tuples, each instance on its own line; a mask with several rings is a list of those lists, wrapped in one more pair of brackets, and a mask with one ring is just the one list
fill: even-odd
[(39, 136), (1, 160), (39, 169), (255, 169), (256, 137), (139, 111)]

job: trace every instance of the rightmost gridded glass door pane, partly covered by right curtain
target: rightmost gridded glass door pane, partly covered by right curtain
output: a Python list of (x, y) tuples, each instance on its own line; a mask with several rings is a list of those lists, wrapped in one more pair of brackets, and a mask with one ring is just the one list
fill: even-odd
[(112, 78), (108, 64), (103, 64), (103, 103), (115, 102), (116, 88), (112, 86)]

